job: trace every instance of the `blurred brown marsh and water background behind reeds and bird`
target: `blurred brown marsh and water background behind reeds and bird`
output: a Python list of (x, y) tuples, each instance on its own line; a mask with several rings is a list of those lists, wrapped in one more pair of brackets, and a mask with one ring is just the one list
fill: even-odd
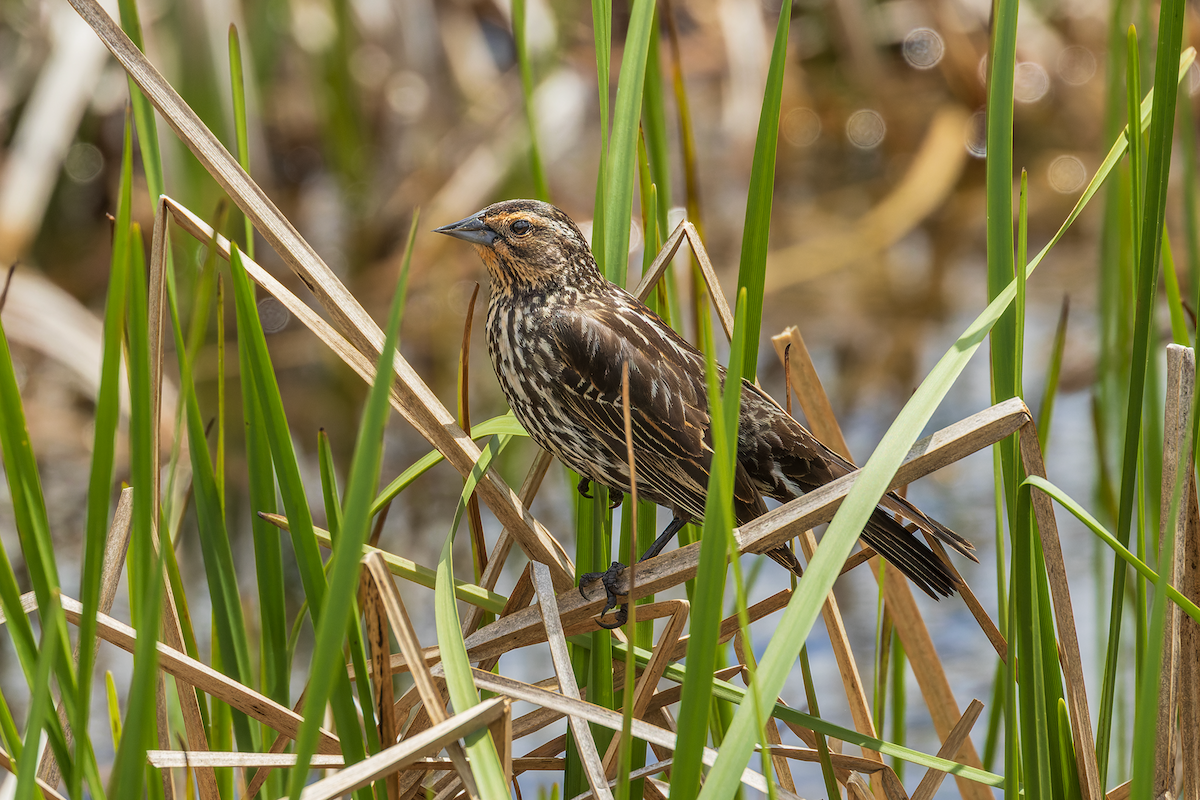
[[(138, 8), (151, 61), (230, 150), (228, 29), (238, 26), (247, 70), (251, 174), (377, 319), (385, 314), (404, 237), (420, 209), (401, 347), (452, 408), (463, 320), (476, 282), (484, 284), (476, 320), (482, 318), (486, 272), (470, 248), (428, 231), (488, 203), (534, 193), (508, 2), (155, 0)], [(680, 108), (671, 86), (677, 53), (695, 137), (696, 221), (726, 288), (736, 284), (778, 12), (778, 0), (659, 5), (658, 58), (672, 136), (672, 180), (659, 192), (670, 192), (679, 206), (673, 224), (683, 216), (688, 191)], [(768, 337), (798, 325), (859, 461), (985, 305), (989, 13), (982, 0), (800, 0), (793, 10), (760, 380), (782, 399), (782, 369)], [(1058, 228), (1112, 143), (1106, 100), (1111, 13), (1094, 0), (1022, 5), (1014, 163), (1028, 170), (1031, 253)], [(1151, 12), (1141, 13), (1139, 30), (1152, 30)], [(0, 264), (18, 265), (4, 325), (24, 381), (61, 565), (78, 549), (83, 524), (98, 314), (109, 265), (106, 215), (116, 204), (128, 88), (121, 68), (66, 0), (5, 0), (0, 14)], [(1189, 14), (1194, 28), (1194, 12)], [(626, 4), (614, 4), (612, 85), (598, 92), (588, 5), (528, 2), (534, 119), (551, 199), (586, 231), (601, 146), (600, 102), (612, 102), (626, 18)], [(1124, 29), (1120, 29), (1116, 58), (1123, 62)], [(1121, 86), (1120, 79), (1115, 85)], [(1192, 97), (1198, 86), (1200, 72), (1193, 67), (1181, 97)], [(1181, 116), (1193, 113), (1192, 103), (1181, 102)], [(1117, 122), (1123, 125), (1123, 113)], [(226, 215), (224, 230), (240, 239), (236, 211), (228, 212), (220, 188), (161, 121), (160, 138), (167, 193), (208, 219)], [(152, 205), (140, 180), (134, 217), (149, 233)], [(1103, 222), (1096, 206), (1030, 283), (1030, 331), (1040, 335), (1026, 343), (1028, 381), (1043, 379), (1062, 305), (1070, 301), (1048, 462), (1051, 480), (1076, 498), (1093, 497), (1096, 480), (1091, 387)], [(186, 287), (203, 261), (203, 247), (181, 234), (174, 240)], [(258, 260), (305, 296), (282, 261), (258, 243)], [(643, 246), (635, 229), (631, 281)], [(686, 260), (678, 267), (686, 283)], [(1183, 295), (1194, 291), (1184, 287)], [(299, 451), (311, 457), (316, 475), (317, 431), (324, 428), (344, 464), (365, 386), (306, 330), (289, 324), (274, 300), (264, 299), (259, 311)], [(232, 318), (230, 308), (230, 336)], [(475, 420), (505, 410), (481, 327), (474, 330), (470, 372)], [(931, 429), (990, 404), (985, 357), (984, 351), (976, 356)], [(215, 393), (215, 373), (212, 347), (199, 360), (198, 378), (206, 381), (202, 391)], [(1032, 397), (1042, 391), (1039, 385), (1026, 389)], [(230, 425), (232, 434), (238, 427)], [(396, 420), (386, 444), (384, 480), (428, 450)], [(532, 455), (528, 443), (510, 449), (502, 465), (510, 483), (520, 482)], [(233, 447), (232, 492), (245, 471), (238, 458)], [(995, 582), (991, 480), (990, 453), (983, 452), (926, 479), (911, 494), (977, 542), (983, 564), (960, 567), (968, 581), (986, 585)], [(442, 467), (402, 494), (382, 546), (432, 563), (460, 486), (452, 470)], [(0, 537), (8, 553), (18, 553), (6, 492), (0, 488)], [(246, 534), (251, 510), (230, 497), (230, 527)], [(560, 471), (552, 469), (534, 512), (570, 552), (569, 498)], [(486, 513), (485, 523), (494, 534)], [(1061, 523), (1069, 567), (1079, 573), (1076, 603), (1086, 608), (1100, 602), (1090, 595), (1092, 549), (1073, 521)], [(198, 559), (194, 542), (186, 533), (181, 539), (181, 559)], [(246, 539), (235, 542), (235, 553), (248, 552)], [(763, 593), (784, 582), (768, 572)], [(64, 576), (65, 585), (72, 581)], [(839, 584), (856, 643), (870, 643), (874, 636), (875, 594), (865, 576)], [(995, 597), (982, 594), (994, 609)], [(983, 634), (956, 599), (920, 601), (946, 648), (960, 700), (986, 702), (991, 667), (977, 664), (979, 658), (991, 664), (995, 656)], [(1092, 655), (1088, 621), (1081, 625), (1086, 657)], [(6, 670), (14, 666), (7, 648), (0, 656)], [(815, 668), (835, 675), (832, 657), (824, 652), (822, 660), (828, 648), (820, 634), (811, 648)], [(955, 670), (955, 662), (962, 669)], [(839, 720), (836, 698), (830, 702), (822, 711)], [(917, 717), (912, 735), (923, 729), (924, 711), (914, 703), (911, 714)], [(931, 736), (931, 728), (924, 729)], [(936, 750), (931, 741), (908, 744)]]

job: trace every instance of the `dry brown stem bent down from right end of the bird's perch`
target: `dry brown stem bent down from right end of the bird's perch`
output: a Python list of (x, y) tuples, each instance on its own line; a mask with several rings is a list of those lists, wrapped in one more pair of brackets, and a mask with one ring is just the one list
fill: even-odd
[[(1038, 427), (1032, 419), (1021, 426), (1019, 443), (1025, 474), (1045, 477), (1046, 468), (1042, 458), (1042, 445), (1038, 443)], [(1099, 800), (1104, 796), (1104, 789), (1096, 763), (1092, 718), (1087, 710), (1087, 684), (1084, 681), (1084, 662), (1079, 655), (1075, 612), (1070, 603), (1070, 587), (1067, 582), (1067, 565), (1062, 557), (1062, 542), (1058, 539), (1058, 523), (1055, 521), (1054, 504), (1049, 494), (1034, 488), (1030, 492), (1030, 500), (1042, 537), (1046, 581), (1050, 584), (1050, 600), (1054, 603), (1054, 618), (1058, 628), (1058, 662), (1062, 666), (1067, 710), (1070, 714), (1079, 788), (1082, 800)]]

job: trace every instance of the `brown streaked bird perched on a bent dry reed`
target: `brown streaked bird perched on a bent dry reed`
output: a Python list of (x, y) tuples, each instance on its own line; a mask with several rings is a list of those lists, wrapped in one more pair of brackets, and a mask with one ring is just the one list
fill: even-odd
[[(517, 421), (539, 446), (617, 497), (628, 494), (630, 465), (622, 405), (629, 369), (629, 411), (637, 492), (668, 509), (671, 523), (642, 555), (658, 555), (689, 522), (704, 516), (712, 462), (706, 356), (658, 314), (601, 275), (578, 225), (540, 200), (496, 203), (436, 228), (474, 245), (487, 267), (487, 351)], [(719, 367), (724, 386), (725, 368)], [(763, 498), (781, 503), (852, 471), (755, 384), (743, 380), (733, 504), (739, 525), (766, 513)], [(590, 495), (588, 495), (590, 497)], [(898, 494), (889, 493), (862, 531), (876, 553), (935, 600), (961, 584), (910, 527), (977, 560), (973, 545)], [(796, 575), (803, 567), (787, 547), (767, 553)], [(617, 604), (624, 565), (581, 578), (604, 581)], [(617, 615), (618, 625), (624, 607)]]

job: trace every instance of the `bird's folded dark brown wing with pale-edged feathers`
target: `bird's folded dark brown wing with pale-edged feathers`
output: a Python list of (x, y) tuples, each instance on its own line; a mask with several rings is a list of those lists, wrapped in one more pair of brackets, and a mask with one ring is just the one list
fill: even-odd
[[(638, 488), (703, 515), (712, 458), (703, 362), (658, 317), (632, 303), (583, 305), (560, 315), (564, 405), (625, 461), (622, 366), (629, 365), (630, 421)], [(680, 347), (683, 343), (683, 347)], [(658, 497), (655, 497), (658, 494)]]

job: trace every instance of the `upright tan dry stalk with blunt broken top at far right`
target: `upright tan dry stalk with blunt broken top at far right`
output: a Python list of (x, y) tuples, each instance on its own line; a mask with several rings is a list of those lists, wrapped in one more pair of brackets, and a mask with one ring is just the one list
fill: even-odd
[[(1168, 585), (1177, 585), (1183, 571), (1187, 542), (1190, 493), (1195, 492), (1195, 465), (1192, 459), (1192, 397), (1195, 391), (1195, 351), (1180, 344), (1166, 345), (1166, 397), (1163, 409), (1163, 485), (1159, 548), (1166, 543), (1165, 531), (1175, 527), (1174, 553), (1159, 552), (1160, 577)], [(1178, 515), (1171, 519), (1171, 499), (1180, 469), (1186, 469)], [(1163, 620), (1163, 662), (1158, 682), (1158, 726), (1154, 745), (1154, 796), (1175, 790), (1175, 711), (1180, 678), (1180, 607), (1166, 603)], [(1200, 765), (1195, 765), (1200, 766)]]

